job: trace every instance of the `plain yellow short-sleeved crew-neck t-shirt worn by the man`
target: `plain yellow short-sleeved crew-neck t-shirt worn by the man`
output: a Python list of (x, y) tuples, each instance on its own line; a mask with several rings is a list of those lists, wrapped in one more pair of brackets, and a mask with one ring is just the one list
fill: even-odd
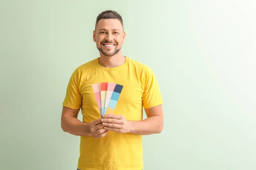
[[(100, 89), (101, 83), (106, 85), (106, 82), (109, 89)], [(111, 89), (113, 84), (118, 88)], [(109, 96), (112, 96), (110, 100)], [(109, 113), (109, 110), (125, 116), (127, 120), (140, 121), (143, 120), (143, 107), (151, 108), (162, 103), (157, 79), (151, 68), (126, 57), (125, 63), (115, 68), (103, 67), (98, 58), (76, 68), (68, 83), (63, 105), (81, 108), (83, 122), (90, 123), (101, 118), (102, 114)], [(142, 170), (142, 135), (108, 131), (100, 139), (81, 136), (77, 168)]]

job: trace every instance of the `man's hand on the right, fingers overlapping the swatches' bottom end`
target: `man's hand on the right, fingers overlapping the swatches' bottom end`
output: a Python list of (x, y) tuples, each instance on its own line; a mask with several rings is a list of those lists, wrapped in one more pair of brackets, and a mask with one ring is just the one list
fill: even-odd
[(119, 133), (128, 133), (131, 130), (129, 122), (125, 119), (125, 116), (116, 114), (103, 115), (102, 125), (104, 129), (112, 130)]

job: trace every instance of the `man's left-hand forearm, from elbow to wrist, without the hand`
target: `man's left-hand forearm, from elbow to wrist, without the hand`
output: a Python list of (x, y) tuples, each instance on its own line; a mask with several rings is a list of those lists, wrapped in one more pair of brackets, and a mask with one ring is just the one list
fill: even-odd
[(83, 123), (79, 119), (76, 119), (70, 115), (64, 116), (62, 118), (61, 127), (64, 132), (76, 136), (92, 136), (89, 123)]

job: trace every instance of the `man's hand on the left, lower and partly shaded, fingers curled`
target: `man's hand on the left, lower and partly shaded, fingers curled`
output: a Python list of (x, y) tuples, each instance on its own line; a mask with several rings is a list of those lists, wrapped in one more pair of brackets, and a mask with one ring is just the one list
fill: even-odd
[(104, 126), (102, 125), (102, 118), (90, 122), (90, 132), (96, 139), (106, 136), (108, 130), (104, 129)]

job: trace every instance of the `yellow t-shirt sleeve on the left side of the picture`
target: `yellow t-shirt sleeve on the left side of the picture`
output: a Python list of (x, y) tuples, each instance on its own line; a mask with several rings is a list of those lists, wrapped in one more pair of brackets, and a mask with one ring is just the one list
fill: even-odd
[(66, 96), (62, 105), (67, 108), (80, 109), (82, 104), (82, 97), (79, 91), (78, 85), (78, 75), (74, 71), (67, 85)]

